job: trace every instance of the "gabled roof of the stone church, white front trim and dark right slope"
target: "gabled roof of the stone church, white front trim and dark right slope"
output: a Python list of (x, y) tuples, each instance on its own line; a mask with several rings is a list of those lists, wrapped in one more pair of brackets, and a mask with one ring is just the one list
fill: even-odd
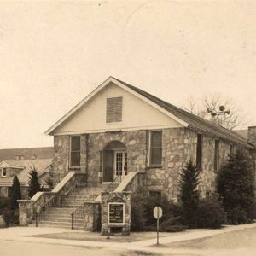
[(224, 140), (239, 143), (247, 148), (254, 148), (251, 144), (247, 143), (247, 140), (244, 137), (241, 137), (235, 131), (230, 131), (220, 125), (214, 124), (207, 119), (203, 119), (193, 113), (189, 113), (182, 108), (177, 108), (176, 106), (161, 100), (160, 98), (149, 94), (148, 92), (141, 90), (131, 84), (127, 84), (119, 79), (109, 77), (104, 81), (100, 86), (96, 88), (89, 96), (85, 97), (83, 101), (79, 102), (73, 109), (71, 109), (66, 115), (64, 115), (55, 125), (51, 126), (48, 131), (45, 131), (46, 134), (52, 134), (55, 129), (66, 121), (73, 113), (75, 113), (79, 108), (84, 106), (84, 104), (90, 100), (91, 97), (95, 96), (100, 90), (102, 90), (110, 82), (113, 82), (116, 85), (119, 85), (121, 88), (130, 91), (133, 95), (141, 98), (144, 102), (148, 102), (154, 108), (158, 108), (161, 112), (166, 113), (172, 119), (175, 119), (179, 124), (189, 127), (190, 129), (205, 132), (214, 137), (223, 138)]

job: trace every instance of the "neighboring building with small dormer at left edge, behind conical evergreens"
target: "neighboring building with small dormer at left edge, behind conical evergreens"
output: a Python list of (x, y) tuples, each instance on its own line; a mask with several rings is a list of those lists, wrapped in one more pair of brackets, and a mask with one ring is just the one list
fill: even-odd
[(45, 178), (49, 176), (53, 154), (50, 147), (0, 149), (0, 196), (11, 195), (13, 178), (17, 175), (22, 198), (27, 198), (28, 173), (32, 167), (38, 171), (40, 183), (47, 188)]

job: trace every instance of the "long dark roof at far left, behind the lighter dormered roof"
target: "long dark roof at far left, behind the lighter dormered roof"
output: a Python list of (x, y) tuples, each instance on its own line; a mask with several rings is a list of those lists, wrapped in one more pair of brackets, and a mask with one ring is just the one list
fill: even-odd
[(15, 160), (15, 156), (23, 156), (23, 160), (31, 160), (33, 155), (38, 159), (49, 159), (54, 156), (53, 147), (41, 148), (7, 148), (0, 149), (0, 160)]

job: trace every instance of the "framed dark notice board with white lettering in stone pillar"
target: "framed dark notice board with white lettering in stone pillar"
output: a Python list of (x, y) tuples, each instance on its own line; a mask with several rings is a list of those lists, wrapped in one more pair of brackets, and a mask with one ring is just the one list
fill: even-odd
[(108, 224), (125, 224), (125, 204), (119, 202), (108, 203)]

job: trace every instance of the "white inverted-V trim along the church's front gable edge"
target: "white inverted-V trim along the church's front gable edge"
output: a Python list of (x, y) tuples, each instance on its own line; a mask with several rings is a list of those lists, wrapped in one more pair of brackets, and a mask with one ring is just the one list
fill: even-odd
[(137, 96), (138, 98), (140, 98), (141, 100), (143, 100), (143, 102), (147, 102), (149, 105), (151, 105), (152, 107), (158, 109), (161, 113), (166, 114), (166, 116), (174, 119), (179, 125), (182, 125), (184, 127), (188, 127), (188, 123), (186, 123), (185, 121), (183, 121), (182, 119), (177, 118), (176, 115), (166, 111), (166, 109), (161, 108), (159, 105), (157, 105), (156, 103), (148, 100), (148, 98), (146, 98), (145, 96), (140, 95), (139, 93), (137, 93), (135, 90), (131, 90), (129, 87), (125, 86), (125, 84), (122, 84), (119, 82), (119, 80), (114, 79), (113, 77), (109, 77), (107, 80), (105, 80), (102, 84), (100, 84), (98, 87), (96, 87), (95, 90), (93, 90), (88, 96), (86, 96), (81, 102), (79, 102), (76, 106), (74, 106), (70, 111), (68, 111), (61, 119), (59, 119), (55, 125), (52, 125), (51, 127), (49, 127), (49, 129), (47, 131), (44, 132), (45, 135), (53, 135), (53, 132), (55, 131), (56, 128), (58, 128), (63, 122), (65, 122), (71, 115), (73, 115), (73, 113), (75, 113), (77, 110), (79, 110), (79, 108), (82, 108), (84, 106), (84, 104), (86, 102), (88, 102), (93, 96), (96, 96), (96, 94), (101, 91), (105, 86), (107, 86), (110, 82), (113, 82), (113, 84), (118, 85), (120, 88), (122, 88), (123, 90), (126, 90), (128, 92), (130, 92), (132, 95)]

